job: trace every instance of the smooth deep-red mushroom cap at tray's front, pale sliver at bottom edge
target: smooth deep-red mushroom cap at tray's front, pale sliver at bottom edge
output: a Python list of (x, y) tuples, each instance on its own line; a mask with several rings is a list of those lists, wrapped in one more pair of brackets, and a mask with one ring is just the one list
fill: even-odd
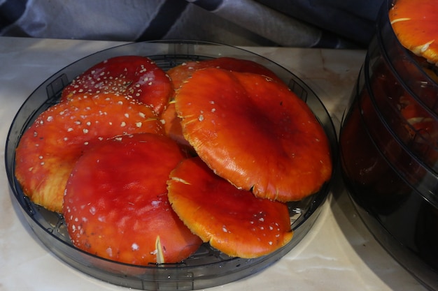
[(171, 209), (167, 179), (185, 156), (169, 137), (140, 133), (85, 151), (66, 184), (73, 244), (127, 264), (181, 262), (202, 240)]

